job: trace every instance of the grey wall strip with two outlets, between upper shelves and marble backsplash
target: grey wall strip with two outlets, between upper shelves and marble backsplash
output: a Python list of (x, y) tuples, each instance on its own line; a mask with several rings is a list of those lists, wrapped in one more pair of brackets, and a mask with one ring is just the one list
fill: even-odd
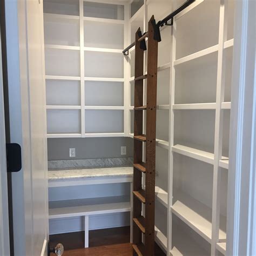
[[(121, 146), (126, 155), (121, 156)], [(69, 157), (69, 149), (76, 148), (76, 157)], [(48, 139), (48, 160), (95, 159), (133, 157), (133, 139), (116, 138), (54, 138)]]

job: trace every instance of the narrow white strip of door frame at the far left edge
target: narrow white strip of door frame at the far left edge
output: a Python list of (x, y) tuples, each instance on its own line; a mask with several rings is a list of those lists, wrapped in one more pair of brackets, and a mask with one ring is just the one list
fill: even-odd
[(0, 255), (9, 255), (9, 218), (3, 99), (3, 69), (0, 29)]

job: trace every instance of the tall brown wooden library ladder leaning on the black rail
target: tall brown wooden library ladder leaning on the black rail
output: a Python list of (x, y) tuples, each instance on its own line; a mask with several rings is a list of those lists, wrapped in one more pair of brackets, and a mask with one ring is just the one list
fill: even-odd
[[(145, 37), (148, 37), (147, 75), (144, 75)], [(149, 31), (142, 35), (139, 28), (135, 41), (132, 247), (133, 255), (143, 256), (154, 255), (158, 41), (160, 42), (159, 27), (152, 16), (149, 21)], [(143, 105), (144, 79), (147, 79), (146, 106)], [(146, 111), (146, 134), (143, 134), (144, 110)], [(143, 163), (143, 143), (146, 143), (145, 163)], [(142, 187), (142, 173), (145, 174), (145, 190)], [(145, 217), (142, 214), (142, 204), (145, 205)]]

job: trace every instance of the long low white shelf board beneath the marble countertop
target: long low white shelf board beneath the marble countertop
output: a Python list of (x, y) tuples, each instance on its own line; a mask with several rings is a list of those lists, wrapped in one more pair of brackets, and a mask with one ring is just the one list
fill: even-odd
[(49, 219), (129, 212), (129, 196), (87, 198), (49, 202)]

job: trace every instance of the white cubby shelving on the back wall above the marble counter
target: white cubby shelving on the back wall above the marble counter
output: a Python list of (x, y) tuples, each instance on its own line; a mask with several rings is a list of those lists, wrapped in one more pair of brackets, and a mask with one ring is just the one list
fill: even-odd
[(128, 12), (127, 3), (44, 2), (48, 138), (127, 136)]

